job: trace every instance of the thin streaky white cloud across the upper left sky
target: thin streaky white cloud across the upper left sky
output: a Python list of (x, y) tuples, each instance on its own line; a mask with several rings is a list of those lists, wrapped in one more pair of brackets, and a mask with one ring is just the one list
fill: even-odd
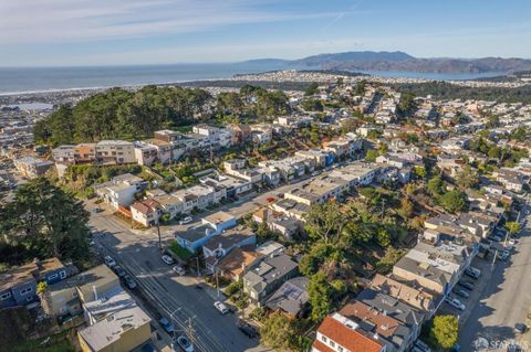
[(266, 12), (256, 0), (13, 0), (0, 4), (0, 43), (124, 39), (336, 15)]

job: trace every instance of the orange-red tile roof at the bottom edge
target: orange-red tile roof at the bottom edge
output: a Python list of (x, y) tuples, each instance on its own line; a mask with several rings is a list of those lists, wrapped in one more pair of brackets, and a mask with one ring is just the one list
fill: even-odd
[[(317, 331), (352, 352), (379, 352), (383, 348), (382, 341), (374, 340), (360, 331), (347, 328), (332, 317), (326, 317)], [(327, 350), (319, 350), (329, 352)], [(329, 350), (333, 351), (330, 348)]]

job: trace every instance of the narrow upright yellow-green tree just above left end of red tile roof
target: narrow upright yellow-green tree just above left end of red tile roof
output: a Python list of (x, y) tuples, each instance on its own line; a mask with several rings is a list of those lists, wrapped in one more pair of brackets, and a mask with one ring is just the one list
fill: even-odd
[(333, 294), (334, 290), (322, 271), (310, 278), (308, 295), (310, 297), (310, 306), (312, 307), (311, 317), (313, 321), (324, 319), (332, 310)]

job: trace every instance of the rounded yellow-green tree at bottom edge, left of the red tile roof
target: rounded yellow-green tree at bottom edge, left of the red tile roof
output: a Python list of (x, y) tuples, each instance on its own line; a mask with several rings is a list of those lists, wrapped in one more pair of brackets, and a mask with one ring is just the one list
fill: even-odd
[(263, 320), (260, 343), (273, 350), (289, 350), (295, 335), (292, 322), (281, 313), (272, 313)]

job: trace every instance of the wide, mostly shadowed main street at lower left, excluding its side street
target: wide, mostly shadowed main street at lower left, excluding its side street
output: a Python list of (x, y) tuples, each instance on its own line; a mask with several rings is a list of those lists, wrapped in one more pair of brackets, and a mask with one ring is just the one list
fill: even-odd
[[(236, 317), (221, 316), (207, 291), (195, 288), (195, 277), (177, 277), (160, 260), (158, 239), (153, 234), (132, 232), (108, 213), (92, 213), (95, 242), (134, 275), (140, 289), (160, 314), (173, 318), (181, 332), (188, 320), (194, 327), (198, 351), (266, 351), (258, 340), (244, 337), (236, 327)], [(170, 237), (165, 236), (164, 241)], [(214, 295), (212, 295), (214, 296)]]

